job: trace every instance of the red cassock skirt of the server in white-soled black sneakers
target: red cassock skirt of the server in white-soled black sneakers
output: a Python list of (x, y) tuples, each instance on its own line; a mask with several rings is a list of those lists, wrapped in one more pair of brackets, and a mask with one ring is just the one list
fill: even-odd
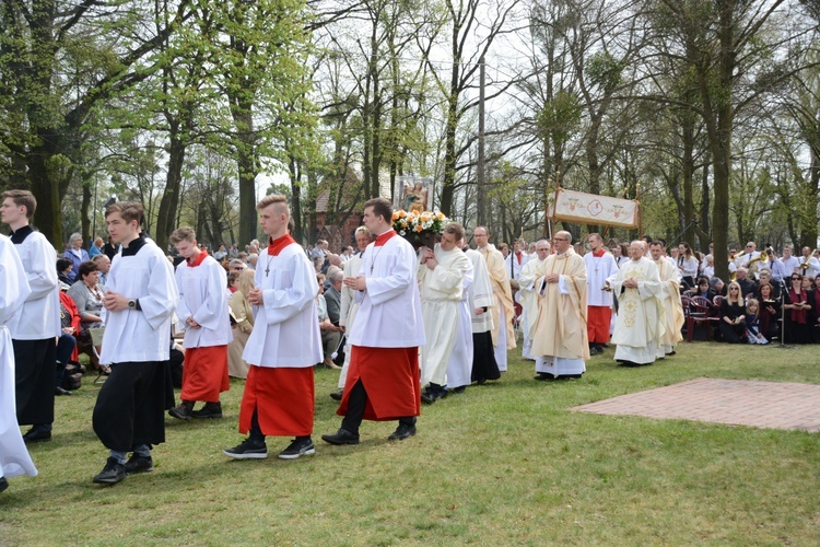
[(271, 369), (251, 364), (242, 395), (239, 432), (250, 430), (256, 410), (265, 435), (309, 435), (315, 398), (313, 366)]

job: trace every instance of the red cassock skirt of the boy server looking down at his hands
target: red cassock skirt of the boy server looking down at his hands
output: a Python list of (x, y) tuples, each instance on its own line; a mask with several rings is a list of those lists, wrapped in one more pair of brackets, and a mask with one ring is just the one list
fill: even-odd
[(227, 380), (227, 346), (188, 348), (183, 366), (183, 400), (218, 403), (231, 388)]

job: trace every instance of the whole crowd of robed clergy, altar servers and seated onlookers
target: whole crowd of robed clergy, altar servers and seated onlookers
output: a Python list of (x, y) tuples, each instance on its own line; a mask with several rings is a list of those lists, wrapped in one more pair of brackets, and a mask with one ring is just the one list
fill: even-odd
[[(509, 252), (479, 225), (470, 248), (465, 228), (441, 213), (441, 229), (427, 230), (433, 238), (413, 238), (403, 229), (407, 213), (374, 198), (364, 203), (355, 248), (335, 255), (327, 242), (303, 248), (291, 235), (286, 198), (268, 195), (257, 203), (267, 245), (253, 242), (245, 257), (224, 247), (211, 255), (189, 226), (173, 232), (168, 256), (143, 232), (141, 203), (108, 205), (108, 268), (90, 260), (73, 235), (70, 259), (57, 260), (31, 225), (34, 196), (9, 190), (2, 198), (11, 234), (0, 235), (0, 491), (7, 478), (37, 475), (28, 447), (59, 428), (55, 396), (71, 392), (56, 385), (55, 373), (80, 349), (104, 381), (89, 426), (107, 455), (92, 480), (114, 485), (154, 469), (167, 418), (222, 419), (230, 376), (234, 385), (244, 381), (244, 438), (224, 456), (262, 459), (268, 438), (283, 437), (278, 457), (297, 459), (317, 452), (317, 366), (339, 370), (329, 395), (341, 421), (320, 439), (343, 446), (367, 434), (364, 420), (395, 422), (389, 441), (415, 435), (422, 404), (457, 404), (470, 386), (502, 381), (518, 345), (535, 381), (549, 383), (582, 379), (596, 356), (622, 366), (669, 359), (684, 335), (820, 341), (819, 253), (808, 247), (800, 257), (785, 247), (780, 258), (754, 242), (735, 248), (727, 286), (714, 277), (712, 253), (684, 242), (624, 244), (600, 233), (576, 241), (559, 230), (529, 247), (519, 238)], [(98, 244), (95, 254), (107, 259)], [(61, 304), (65, 291), (84, 296)], [(714, 331), (695, 321), (702, 305), (713, 306)], [(71, 326), (67, 306), (85, 319)], [(24, 434), (23, 426), (31, 427)]]

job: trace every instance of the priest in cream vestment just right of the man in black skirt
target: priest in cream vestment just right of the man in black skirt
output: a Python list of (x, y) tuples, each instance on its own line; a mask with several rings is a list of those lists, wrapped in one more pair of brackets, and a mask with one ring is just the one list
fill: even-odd
[(504, 268), (504, 255), (495, 248), (495, 245), (490, 243), (490, 231), (487, 226), (476, 228), (472, 236), (476, 240), (476, 251), (484, 257), (487, 270), (490, 272), (490, 281), (495, 296), (495, 305), (491, 310), (495, 362), (499, 365), (499, 371), (506, 372), (507, 351), (515, 348), (515, 330), (513, 328), (515, 305), (509, 287), (509, 274)]

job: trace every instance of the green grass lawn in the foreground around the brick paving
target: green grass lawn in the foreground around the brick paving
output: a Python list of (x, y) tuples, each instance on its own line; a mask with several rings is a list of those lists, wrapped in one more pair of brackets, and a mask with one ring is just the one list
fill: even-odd
[[(511, 356), (512, 357), (512, 356)], [(583, 380), (531, 380), (511, 359), (494, 385), (424, 407), (419, 434), (365, 422), (358, 446), (319, 440), (340, 418), (316, 374), (317, 453), (234, 462), (242, 382), (222, 420), (167, 418), (155, 470), (98, 487), (106, 451), (91, 430), (98, 385), (57, 398), (40, 472), (0, 494), (0, 545), (383, 545), (820, 543), (820, 438), (799, 431), (609, 417), (570, 407), (699, 376), (820, 383), (817, 347), (683, 344), (620, 369), (612, 349)]]

